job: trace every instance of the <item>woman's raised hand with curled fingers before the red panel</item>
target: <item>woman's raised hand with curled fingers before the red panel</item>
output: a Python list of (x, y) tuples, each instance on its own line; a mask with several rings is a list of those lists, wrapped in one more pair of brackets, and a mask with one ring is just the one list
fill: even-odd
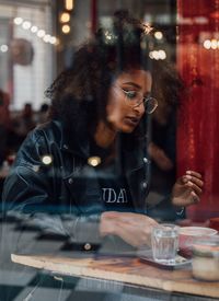
[(173, 186), (172, 204), (181, 207), (199, 202), (203, 185), (204, 183), (199, 173), (187, 171)]

